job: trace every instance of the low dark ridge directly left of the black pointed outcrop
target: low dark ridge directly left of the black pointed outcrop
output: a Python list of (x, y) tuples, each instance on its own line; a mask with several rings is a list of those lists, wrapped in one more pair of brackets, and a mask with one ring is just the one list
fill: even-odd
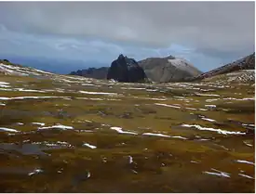
[(70, 74), (103, 80), (107, 78), (108, 69), (107, 67), (89, 68), (88, 70), (72, 71)]

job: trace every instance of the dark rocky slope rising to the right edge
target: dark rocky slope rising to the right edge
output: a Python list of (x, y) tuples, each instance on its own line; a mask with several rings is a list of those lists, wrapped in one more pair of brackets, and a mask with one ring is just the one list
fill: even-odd
[(231, 73), (233, 71), (242, 71), (242, 70), (255, 70), (255, 53), (247, 57), (240, 58), (232, 63), (223, 65), (220, 68), (202, 73), (198, 76), (195, 76), (194, 78), (188, 79), (188, 81), (203, 80), (206, 78), (211, 78), (211, 77), (222, 75), (225, 73)]

